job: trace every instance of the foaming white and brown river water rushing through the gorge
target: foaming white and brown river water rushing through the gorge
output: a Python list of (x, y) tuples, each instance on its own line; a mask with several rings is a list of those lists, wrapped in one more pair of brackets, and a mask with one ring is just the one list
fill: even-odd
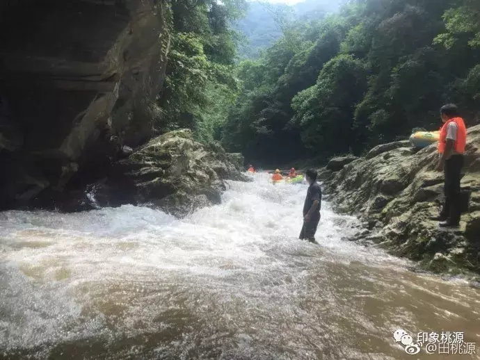
[(253, 177), (183, 220), (1, 213), (0, 357), (405, 359), (397, 328), (480, 345), (478, 291), (340, 240), (357, 220), (325, 202), (320, 245), (298, 240), (306, 186)]

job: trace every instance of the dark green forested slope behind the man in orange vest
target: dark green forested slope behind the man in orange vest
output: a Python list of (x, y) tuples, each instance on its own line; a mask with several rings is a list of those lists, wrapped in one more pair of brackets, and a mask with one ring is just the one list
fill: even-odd
[(351, 0), (337, 15), (289, 24), (257, 60), (239, 63), (241, 91), (227, 111), (223, 144), (273, 165), (361, 154), (413, 128), (436, 130), (445, 102), (473, 124), (479, 4)]

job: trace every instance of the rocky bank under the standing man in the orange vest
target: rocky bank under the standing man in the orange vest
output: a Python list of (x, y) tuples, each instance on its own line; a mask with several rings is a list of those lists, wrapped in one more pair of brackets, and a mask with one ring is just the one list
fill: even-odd
[(326, 181), (329, 199), (339, 211), (365, 220), (372, 233), (361, 237), (394, 254), (430, 270), (480, 272), (480, 126), (468, 131), (462, 188), (470, 193), (470, 208), (458, 230), (429, 220), (443, 201), (436, 146), (415, 152), (405, 145), (381, 145), (346, 165)]

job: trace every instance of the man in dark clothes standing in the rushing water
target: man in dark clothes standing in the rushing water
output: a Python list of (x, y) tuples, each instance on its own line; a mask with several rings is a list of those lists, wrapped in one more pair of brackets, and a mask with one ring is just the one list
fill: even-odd
[(317, 172), (314, 170), (307, 170), (305, 179), (310, 185), (307, 190), (307, 197), (305, 204), (303, 204), (303, 227), (300, 233), (301, 240), (308, 240), (310, 243), (317, 243), (315, 241), (315, 233), (320, 221), (321, 208), (321, 188), (317, 183)]

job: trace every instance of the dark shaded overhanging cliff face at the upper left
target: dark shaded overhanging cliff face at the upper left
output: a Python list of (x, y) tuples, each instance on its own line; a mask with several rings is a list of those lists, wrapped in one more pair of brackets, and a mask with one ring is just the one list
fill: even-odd
[(152, 136), (169, 8), (17, 0), (1, 10), (0, 204), (11, 208), (91, 181), (122, 145)]

